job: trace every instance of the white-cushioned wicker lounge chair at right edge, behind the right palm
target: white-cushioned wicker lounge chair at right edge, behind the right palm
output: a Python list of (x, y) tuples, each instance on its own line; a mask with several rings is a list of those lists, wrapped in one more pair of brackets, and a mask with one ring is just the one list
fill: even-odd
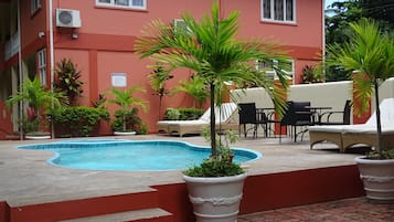
[[(382, 123), (382, 147), (394, 146), (394, 98), (385, 98), (380, 104)], [(341, 151), (356, 145), (377, 146), (376, 114), (373, 113), (365, 124), (310, 126), (310, 148), (321, 141), (336, 144)]]

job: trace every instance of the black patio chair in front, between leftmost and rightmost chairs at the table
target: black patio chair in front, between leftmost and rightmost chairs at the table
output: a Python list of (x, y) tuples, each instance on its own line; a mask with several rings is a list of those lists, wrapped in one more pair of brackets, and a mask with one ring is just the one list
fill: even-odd
[(283, 126), (290, 127), (290, 136), (294, 137), (294, 141), (297, 141), (297, 136), (301, 134), (301, 140), (307, 129), (297, 133), (297, 127), (312, 125), (312, 113), (310, 110), (310, 102), (287, 102), (287, 110), (280, 120), (279, 127), (279, 142), (281, 142), (281, 128)]

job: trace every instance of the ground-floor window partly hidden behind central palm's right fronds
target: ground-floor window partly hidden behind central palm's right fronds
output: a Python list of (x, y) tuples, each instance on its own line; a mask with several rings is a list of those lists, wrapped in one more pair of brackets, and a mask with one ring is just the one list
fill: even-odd
[(294, 61), (288, 60), (288, 61), (277, 61), (273, 60), (270, 62), (262, 62), (257, 61), (256, 62), (256, 70), (264, 70), (265, 75), (267, 76), (268, 80), (276, 80), (276, 71), (275, 68), (279, 68), (283, 71), (288, 78), (294, 80)]

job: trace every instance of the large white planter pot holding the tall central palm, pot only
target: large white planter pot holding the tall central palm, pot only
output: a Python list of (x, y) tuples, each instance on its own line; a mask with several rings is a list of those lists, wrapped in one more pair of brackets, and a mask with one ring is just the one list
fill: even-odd
[(236, 222), (246, 173), (195, 178), (183, 176), (198, 222)]

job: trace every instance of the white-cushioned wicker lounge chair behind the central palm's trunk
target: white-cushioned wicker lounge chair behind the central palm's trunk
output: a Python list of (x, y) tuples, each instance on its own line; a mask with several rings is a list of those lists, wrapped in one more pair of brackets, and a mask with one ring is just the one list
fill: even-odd
[[(234, 119), (234, 114), (237, 110), (235, 103), (224, 103), (220, 107), (215, 107), (216, 129), (234, 129), (238, 128), (238, 124)], [(158, 133), (169, 135), (183, 136), (185, 134), (201, 134), (205, 126), (211, 121), (211, 108), (195, 120), (162, 120), (157, 123)]]

